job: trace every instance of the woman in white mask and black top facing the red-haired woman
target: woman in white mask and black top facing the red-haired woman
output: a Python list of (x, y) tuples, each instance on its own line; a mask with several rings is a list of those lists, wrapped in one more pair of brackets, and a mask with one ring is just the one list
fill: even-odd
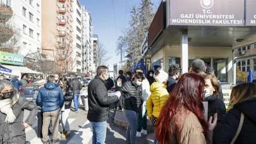
[(226, 115), (226, 107), (224, 102), (219, 99), (219, 81), (214, 75), (202, 75), (205, 81), (204, 101), (208, 102), (208, 119), (217, 113), (217, 122), (222, 121)]

